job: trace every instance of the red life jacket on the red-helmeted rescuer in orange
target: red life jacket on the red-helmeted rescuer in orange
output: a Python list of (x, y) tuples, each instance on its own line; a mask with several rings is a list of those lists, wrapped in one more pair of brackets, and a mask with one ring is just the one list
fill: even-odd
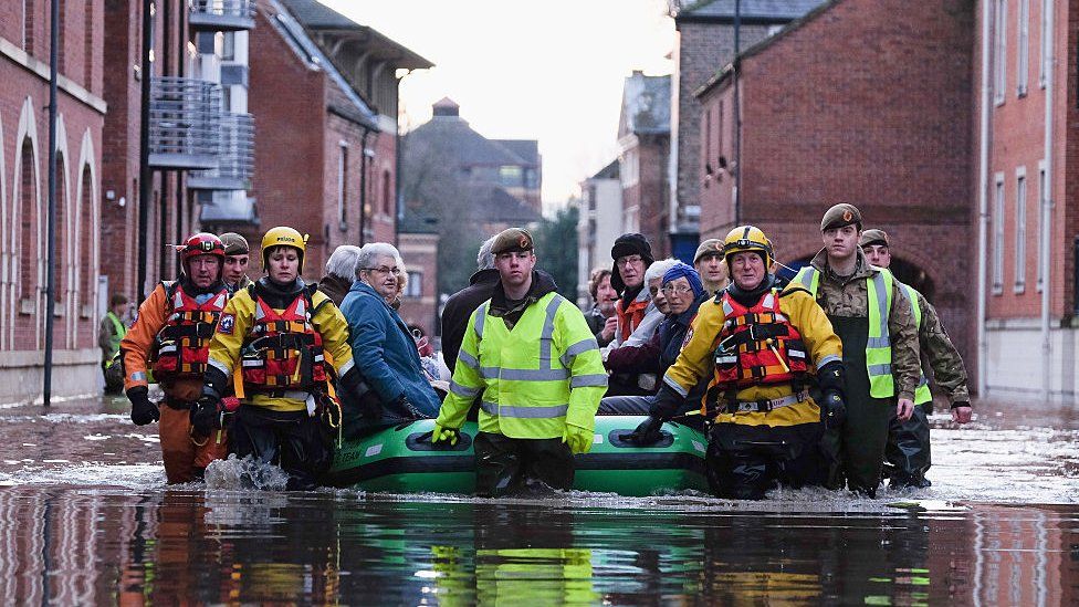
[(206, 303), (199, 304), (184, 291), (179, 281), (161, 284), (169, 308), (165, 326), (155, 341), (154, 377), (158, 380), (201, 379), (210, 353), (210, 338), (229, 301), (229, 291), (222, 287)]

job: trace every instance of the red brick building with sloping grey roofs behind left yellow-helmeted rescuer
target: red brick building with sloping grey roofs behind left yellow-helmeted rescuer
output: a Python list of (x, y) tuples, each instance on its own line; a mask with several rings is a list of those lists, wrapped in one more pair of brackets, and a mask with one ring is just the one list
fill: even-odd
[(261, 234), (311, 236), (317, 279), (341, 244), (396, 240), (397, 70), (431, 63), (314, 0), (260, 0), (252, 34)]

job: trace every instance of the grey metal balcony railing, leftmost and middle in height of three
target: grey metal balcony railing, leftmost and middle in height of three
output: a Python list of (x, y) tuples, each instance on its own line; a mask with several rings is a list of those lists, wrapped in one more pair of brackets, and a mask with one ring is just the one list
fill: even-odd
[(221, 146), (221, 86), (161, 76), (150, 84), (150, 166), (211, 169)]

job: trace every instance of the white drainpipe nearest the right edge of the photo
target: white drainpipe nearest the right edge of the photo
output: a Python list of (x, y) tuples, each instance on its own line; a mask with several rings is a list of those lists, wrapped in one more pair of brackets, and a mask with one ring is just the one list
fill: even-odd
[(1050, 0), (1045, 3), (1046, 14), (1044, 17), (1046, 28), (1045, 36), (1049, 41), (1046, 44), (1046, 118), (1045, 118), (1045, 196), (1041, 200), (1041, 233), (1038, 234), (1041, 239), (1040, 253), (1041, 259), (1038, 263), (1041, 264), (1041, 398), (1049, 400), (1049, 388), (1052, 381), (1052, 365), (1050, 355), (1052, 354), (1052, 343), (1049, 336), (1049, 293), (1052, 286), (1052, 280), (1050, 276), (1051, 263), (1052, 263), (1052, 81), (1055, 71), (1055, 53), (1054, 53), (1054, 2)]

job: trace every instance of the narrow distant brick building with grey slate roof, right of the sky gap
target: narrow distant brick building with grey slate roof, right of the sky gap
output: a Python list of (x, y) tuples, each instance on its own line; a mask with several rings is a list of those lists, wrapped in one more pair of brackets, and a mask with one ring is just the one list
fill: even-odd
[(656, 259), (670, 254), (668, 159), (671, 144), (671, 76), (626, 79), (618, 118), (618, 176), (624, 229), (645, 234)]

